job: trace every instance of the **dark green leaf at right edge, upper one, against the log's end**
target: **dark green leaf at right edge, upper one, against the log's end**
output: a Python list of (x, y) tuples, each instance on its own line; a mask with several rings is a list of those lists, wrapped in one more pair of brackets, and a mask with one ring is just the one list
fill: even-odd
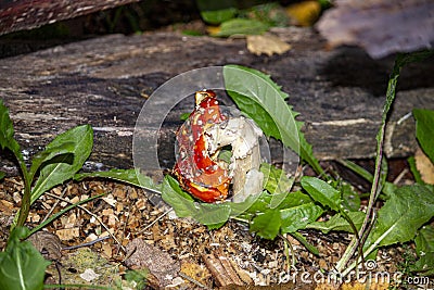
[(413, 109), (416, 118), (416, 138), (423, 152), (434, 163), (434, 111)]

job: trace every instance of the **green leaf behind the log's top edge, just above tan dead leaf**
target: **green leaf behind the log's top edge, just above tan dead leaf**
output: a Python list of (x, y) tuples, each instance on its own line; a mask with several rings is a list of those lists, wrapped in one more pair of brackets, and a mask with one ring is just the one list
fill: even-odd
[(212, 36), (228, 37), (232, 35), (260, 35), (270, 26), (256, 20), (233, 18), (221, 23), (220, 30)]

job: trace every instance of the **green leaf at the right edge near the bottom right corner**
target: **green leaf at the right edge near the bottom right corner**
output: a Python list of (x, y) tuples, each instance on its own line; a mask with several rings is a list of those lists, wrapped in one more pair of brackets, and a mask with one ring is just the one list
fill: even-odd
[(412, 265), (411, 270), (423, 273), (425, 276), (434, 275), (434, 227), (422, 227), (416, 236), (416, 251), (419, 260)]

